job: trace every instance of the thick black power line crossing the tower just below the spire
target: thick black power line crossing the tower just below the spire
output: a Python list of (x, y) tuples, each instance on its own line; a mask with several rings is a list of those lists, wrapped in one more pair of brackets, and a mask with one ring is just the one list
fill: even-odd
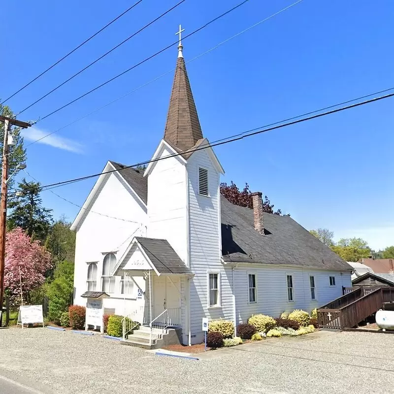
[[(394, 89), (394, 88), (391, 88), (391, 89)], [(296, 118), (299, 118), (300, 116), (302, 116), (302, 115), (299, 115), (299, 116), (290, 118), (290, 119), (296, 119), (296, 120), (293, 120), (291, 122), (283, 123), (285, 121), (280, 121), (280, 122), (276, 122), (276, 126), (273, 126), (273, 127), (269, 127), (269, 128), (267, 128), (267, 126), (258, 127), (258, 128), (255, 128), (255, 129), (244, 131), (244, 132), (236, 134), (234, 136), (230, 136), (230, 137), (227, 137), (227, 138), (223, 138), (221, 140), (214, 141), (212, 143), (201, 145), (201, 146), (199, 146), (199, 147), (197, 147), (195, 149), (190, 149), (190, 150), (188, 150), (186, 152), (187, 153), (193, 153), (193, 152), (196, 152), (196, 151), (199, 151), (199, 150), (212, 148), (214, 146), (224, 145), (224, 144), (227, 144), (227, 143), (230, 143), (230, 142), (241, 140), (243, 138), (251, 137), (253, 135), (261, 134), (261, 133), (266, 132), (266, 131), (272, 131), (272, 130), (276, 130), (276, 129), (281, 129), (281, 128), (286, 127), (286, 126), (291, 126), (291, 125), (295, 125), (297, 123), (301, 123), (301, 122), (309, 121), (309, 120), (312, 120), (312, 119), (320, 118), (322, 116), (330, 115), (330, 114), (333, 114), (333, 113), (336, 113), (336, 112), (341, 112), (341, 111), (344, 111), (344, 110), (347, 110), (347, 109), (350, 109), (350, 108), (355, 108), (355, 107), (358, 107), (358, 106), (361, 106), (361, 105), (364, 105), (364, 104), (368, 104), (368, 103), (371, 103), (371, 102), (374, 102), (374, 101), (379, 101), (379, 100), (382, 100), (382, 99), (388, 99), (388, 98), (393, 97), (393, 96), (394, 96), (394, 93), (391, 93), (391, 94), (388, 94), (388, 95), (385, 95), (385, 96), (376, 97), (376, 98), (373, 98), (373, 99), (357, 102), (355, 104), (346, 105), (344, 107), (332, 109), (330, 111), (322, 112), (322, 113), (319, 113), (319, 114), (316, 114), (316, 115), (308, 116), (306, 118), (304, 117), (302, 119), (296, 119)], [(352, 101), (352, 100), (350, 100), (350, 101)], [(338, 105), (338, 104), (336, 104), (336, 105)], [(336, 105), (331, 105), (330, 107), (334, 107)], [(315, 111), (313, 111), (313, 112), (315, 112)], [(310, 112), (310, 113), (313, 113), (313, 112)], [(278, 125), (278, 123), (282, 123), (282, 124)], [(157, 159), (148, 160), (148, 161), (145, 161), (145, 162), (140, 162), (140, 163), (128, 165), (128, 166), (125, 166), (125, 167), (123, 167), (123, 168), (121, 168), (119, 170), (114, 169), (114, 170), (109, 170), (109, 171), (105, 171), (105, 172), (99, 172), (99, 173), (93, 174), (93, 175), (87, 175), (87, 176), (80, 177), (80, 178), (70, 179), (68, 181), (52, 183), (50, 185), (42, 186), (41, 189), (42, 190), (49, 190), (47, 188), (51, 188), (52, 189), (52, 188), (59, 187), (59, 186), (62, 186), (62, 185), (67, 185), (67, 184), (83, 181), (85, 179), (94, 178), (94, 177), (100, 176), (102, 174), (108, 174), (108, 173), (118, 172), (118, 171), (120, 172), (120, 171), (122, 171), (124, 169), (135, 167), (137, 165), (155, 163), (155, 162), (159, 162), (159, 161), (164, 160), (164, 159), (169, 159), (171, 157), (180, 156), (180, 155), (183, 155), (186, 152), (182, 151), (182, 152), (174, 153), (172, 155), (167, 155), (167, 156), (164, 156), (164, 157), (161, 157), (161, 158), (157, 158)]]

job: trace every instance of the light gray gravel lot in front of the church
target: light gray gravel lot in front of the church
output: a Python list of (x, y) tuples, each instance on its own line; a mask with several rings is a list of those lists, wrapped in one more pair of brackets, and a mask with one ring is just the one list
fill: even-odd
[(159, 357), (99, 335), (48, 328), (0, 330), (0, 375), (39, 382), (50, 393), (393, 393), (389, 334), (320, 331), (203, 357)]

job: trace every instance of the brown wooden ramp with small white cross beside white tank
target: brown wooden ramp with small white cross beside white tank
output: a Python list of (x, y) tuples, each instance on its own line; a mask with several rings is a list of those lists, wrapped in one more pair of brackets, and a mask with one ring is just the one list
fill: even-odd
[[(353, 290), (354, 289), (354, 290)], [(392, 287), (359, 287), (317, 310), (320, 328), (353, 328), (368, 316), (394, 302)]]

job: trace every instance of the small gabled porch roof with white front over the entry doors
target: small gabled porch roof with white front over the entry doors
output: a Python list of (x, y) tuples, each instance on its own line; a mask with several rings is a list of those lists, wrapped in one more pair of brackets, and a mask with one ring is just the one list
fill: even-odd
[(158, 275), (192, 273), (166, 239), (134, 237), (114, 274), (119, 275), (122, 270), (149, 269)]

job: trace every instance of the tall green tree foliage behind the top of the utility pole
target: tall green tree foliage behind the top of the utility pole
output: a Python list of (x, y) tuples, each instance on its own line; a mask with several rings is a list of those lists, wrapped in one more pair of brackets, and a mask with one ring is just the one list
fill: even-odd
[[(11, 109), (4, 105), (0, 105), (0, 114), (8, 117), (13, 117)], [(8, 173), (12, 174), (15, 167), (18, 164), (25, 163), (26, 161), (26, 150), (23, 147), (23, 137), (20, 134), (18, 128), (13, 128), (10, 132), (14, 135), (15, 146), (9, 147), (8, 155)], [(0, 173), (2, 169), (2, 153), (3, 153), (3, 142), (4, 142), (4, 122), (0, 122)], [(12, 188), (14, 180), (11, 178), (8, 182), (8, 189)]]

